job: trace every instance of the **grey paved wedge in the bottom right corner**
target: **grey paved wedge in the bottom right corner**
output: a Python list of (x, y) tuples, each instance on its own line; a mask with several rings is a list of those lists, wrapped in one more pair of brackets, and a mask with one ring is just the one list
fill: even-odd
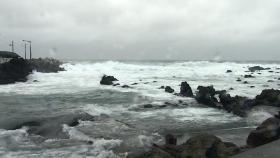
[(248, 150), (232, 158), (280, 158), (280, 140)]

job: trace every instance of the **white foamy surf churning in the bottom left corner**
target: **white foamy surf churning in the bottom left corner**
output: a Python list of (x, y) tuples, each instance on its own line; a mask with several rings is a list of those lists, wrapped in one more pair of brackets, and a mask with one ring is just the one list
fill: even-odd
[[(27, 134), (27, 128), (7, 131), (0, 130), (0, 157), (5, 158), (119, 158), (112, 149), (119, 146), (121, 140), (105, 140), (91, 138), (73, 127), (63, 126), (64, 132), (68, 133), (70, 140), (92, 141), (90, 145), (77, 144), (59, 148), (43, 148), (47, 144), (61, 144), (62, 140), (46, 140), (43, 145), (35, 144)], [(48, 146), (48, 145), (47, 145)]]

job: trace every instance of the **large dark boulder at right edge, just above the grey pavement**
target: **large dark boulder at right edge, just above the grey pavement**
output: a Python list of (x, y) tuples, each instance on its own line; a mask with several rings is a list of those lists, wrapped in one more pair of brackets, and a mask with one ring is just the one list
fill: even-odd
[(247, 138), (247, 145), (257, 147), (279, 139), (280, 120), (278, 118), (269, 118), (260, 126), (252, 131)]

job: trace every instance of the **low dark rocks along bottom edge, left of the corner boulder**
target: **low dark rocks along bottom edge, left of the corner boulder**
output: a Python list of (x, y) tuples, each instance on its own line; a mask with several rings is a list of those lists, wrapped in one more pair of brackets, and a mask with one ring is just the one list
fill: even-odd
[[(173, 138), (172, 138), (173, 139)], [(211, 134), (191, 137), (182, 145), (153, 145), (152, 149), (137, 158), (228, 158), (240, 152), (233, 143), (223, 142)]]

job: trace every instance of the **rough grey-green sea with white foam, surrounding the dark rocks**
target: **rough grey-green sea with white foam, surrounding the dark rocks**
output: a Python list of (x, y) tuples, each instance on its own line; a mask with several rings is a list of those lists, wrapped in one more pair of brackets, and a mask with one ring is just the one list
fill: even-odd
[[(244, 79), (250, 74), (248, 66), (255, 65), (274, 72), (265, 70), (254, 73), (256, 78)], [(187, 81), (193, 91), (199, 85), (213, 85), (216, 90), (234, 88), (228, 91), (231, 95), (253, 98), (263, 89), (279, 88), (278, 63), (68, 61), (62, 66), (66, 71), (34, 72), (28, 82), (0, 86), (0, 157), (126, 157), (148, 150), (153, 143), (164, 143), (168, 133), (180, 143), (193, 134), (209, 132), (244, 145), (249, 131), (276, 111), (260, 107), (240, 118), (159, 87), (171, 86), (179, 92), (180, 83)], [(104, 74), (131, 88), (100, 85)], [(237, 82), (238, 77), (249, 84)], [(163, 106), (166, 102), (170, 106)], [(144, 104), (153, 107), (144, 108)], [(63, 123), (77, 114), (95, 119), (75, 127)], [(7, 130), (36, 120), (45, 123), (41, 131), (45, 137), (30, 134), (28, 127)]]

